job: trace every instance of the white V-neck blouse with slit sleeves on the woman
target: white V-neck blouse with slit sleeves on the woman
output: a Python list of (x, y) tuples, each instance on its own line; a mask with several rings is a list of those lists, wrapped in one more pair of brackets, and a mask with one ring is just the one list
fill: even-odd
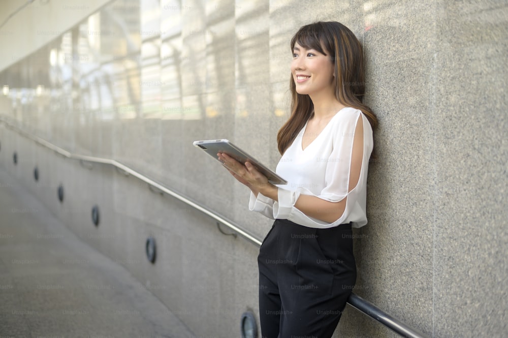
[[(363, 122), (363, 160), (356, 187), (348, 192), (351, 158), (356, 124)], [(287, 219), (311, 228), (331, 228), (353, 222), (354, 228), (367, 224), (367, 171), (373, 147), (372, 128), (367, 117), (358, 109), (345, 107), (328, 122), (323, 131), (302, 149), (302, 137), (307, 122), (293, 143), (285, 150), (275, 172), (288, 181), (277, 185), (278, 202), (251, 192), (249, 210), (258, 211), (271, 219)], [(298, 197), (312, 195), (338, 202), (346, 199), (342, 216), (333, 223), (308, 217), (294, 205)]]

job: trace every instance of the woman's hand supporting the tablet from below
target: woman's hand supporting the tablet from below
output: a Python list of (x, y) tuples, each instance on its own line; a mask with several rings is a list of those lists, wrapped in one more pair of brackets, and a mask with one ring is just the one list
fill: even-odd
[(268, 186), (272, 186), (268, 182), (268, 178), (260, 173), (250, 162), (241, 164), (232, 157), (226, 155), (224, 152), (217, 153), (217, 157), (223, 166), (229, 170), (229, 172), (235, 177), (240, 183), (244, 184), (256, 195), (261, 190), (265, 190)]

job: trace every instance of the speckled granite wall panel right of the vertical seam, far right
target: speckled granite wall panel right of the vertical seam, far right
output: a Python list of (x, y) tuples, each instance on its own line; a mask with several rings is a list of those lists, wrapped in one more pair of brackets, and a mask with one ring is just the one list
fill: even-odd
[[(506, 7), (459, 9), (464, 13), (455, 18), (460, 19), (459, 27), (475, 27), (478, 33), (473, 41), (463, 34), (451, 44), (443, 41), (436, 55), (435, 135), (441, 142), (435, 153), (434, 294), (442, 301), (435, 302), (441, 314), (435, 332), (502, 336), (508, 294), (508, 25), (494, 25), (494, 19), (487, 18), (497, 17)], [(442, 25), (450, 24), (451, 11), (456, 9), (444, 10)], [(454, 308), (465, 316), (454, 318)], [(472, 317), (475, 320), (469, 320)]]

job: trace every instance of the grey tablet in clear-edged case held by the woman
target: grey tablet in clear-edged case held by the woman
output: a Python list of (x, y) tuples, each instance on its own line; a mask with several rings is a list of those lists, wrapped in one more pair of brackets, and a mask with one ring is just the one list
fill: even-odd
[(268, 178), (268, 181), (273, 185), (286, 185), (288, 181), (265, 167), (259, 161), (252, 156), (248, 155), (245, 151), (231, 143), (229, 140), (207, 140), (207, 141), (194, 141), (195, 147), (200, 147), (205, 152), (218, 161), (217, 152), (224, 152), (226, 155), (234, 158), (241, 164), (249, 161), (252, 165), (258, 169), (263, 175)]

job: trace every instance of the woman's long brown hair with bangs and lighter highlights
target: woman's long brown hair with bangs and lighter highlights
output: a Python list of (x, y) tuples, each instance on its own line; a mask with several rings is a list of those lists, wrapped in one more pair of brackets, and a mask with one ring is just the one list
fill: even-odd
[[(339, 22), (315, 22), (300, 27), (296, 32), (291, 39), (292, 51), (297, 42), (306, 49), (315, 49), (324, 55), (330, 54), (334, 64), (335, 97), (344, 106), (361, 110), (374, 129), (377, 126), (376, 115), (363, 104), (365, 82), (362, 45), (353, 32)], [(290, 88), (291, 116), (277, 133), (280, 155), (291, 145), (314, 113), (310, 97), (296, 92), (293, 75), (290, 78)]]

